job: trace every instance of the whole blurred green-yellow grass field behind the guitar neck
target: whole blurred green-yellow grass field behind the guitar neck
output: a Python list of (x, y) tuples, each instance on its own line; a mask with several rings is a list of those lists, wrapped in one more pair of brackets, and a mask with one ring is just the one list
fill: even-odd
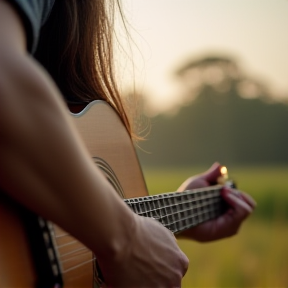
[[(201, 168), (144, 169), (151, 194), (174, 191)], [(288, 287), (288, 167), (230, 167), (239, 189), (257, 201), (233, 238), (179, 241), (190, 259), (183, 287)]]

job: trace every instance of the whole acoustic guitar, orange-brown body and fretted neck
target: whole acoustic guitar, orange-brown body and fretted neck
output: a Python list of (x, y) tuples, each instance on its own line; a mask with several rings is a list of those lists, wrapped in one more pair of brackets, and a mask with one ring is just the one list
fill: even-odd
[[(94, 101), (72, 116), (95, 165), (135, 213), (153, 217), (177, 234), (227, 209), (220, 195), (222, 185), (148, 196), (133, 143), (114, 109)], [(4, 193), (0, 233), (1, 288), (102, 285), (92, 251)]]

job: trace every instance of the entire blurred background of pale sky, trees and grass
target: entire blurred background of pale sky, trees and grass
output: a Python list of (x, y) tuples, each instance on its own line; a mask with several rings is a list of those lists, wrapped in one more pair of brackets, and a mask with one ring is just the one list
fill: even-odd
[(118, 75), (146, 115), (149, 192), (218, 161), (258, 203), (234, 238), (180, 241), (183, 287), (288, 287), (288, 1), (122, 2)]

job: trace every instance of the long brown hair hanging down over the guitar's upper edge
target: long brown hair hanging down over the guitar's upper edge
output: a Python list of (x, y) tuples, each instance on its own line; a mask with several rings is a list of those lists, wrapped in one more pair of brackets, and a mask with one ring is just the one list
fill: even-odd
[(41, 30), (35, 58), (51, 74), (68, 104), (104, 100), (133, 136), (114, 78), (115, 9), (123, 17), (119, 1), (114, 2), (56, 0)]

